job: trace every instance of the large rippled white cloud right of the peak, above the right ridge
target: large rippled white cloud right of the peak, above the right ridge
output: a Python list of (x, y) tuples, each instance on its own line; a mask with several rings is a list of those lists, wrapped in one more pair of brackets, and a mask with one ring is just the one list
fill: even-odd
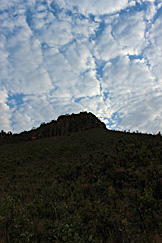
[(124, 56), (113, 62), (108, 62), (104, 67), (102, 89), (104, 93), (109, 92), (111, 109), (121, 119), (116, 128), (141, 128), (146, 131), (149, 119), (153, 120), (157, 113), (154, 106), (150, 106), (150, 99), (154, 100), (156, 96), (154, 77), (145, 60), (130, 60)]

